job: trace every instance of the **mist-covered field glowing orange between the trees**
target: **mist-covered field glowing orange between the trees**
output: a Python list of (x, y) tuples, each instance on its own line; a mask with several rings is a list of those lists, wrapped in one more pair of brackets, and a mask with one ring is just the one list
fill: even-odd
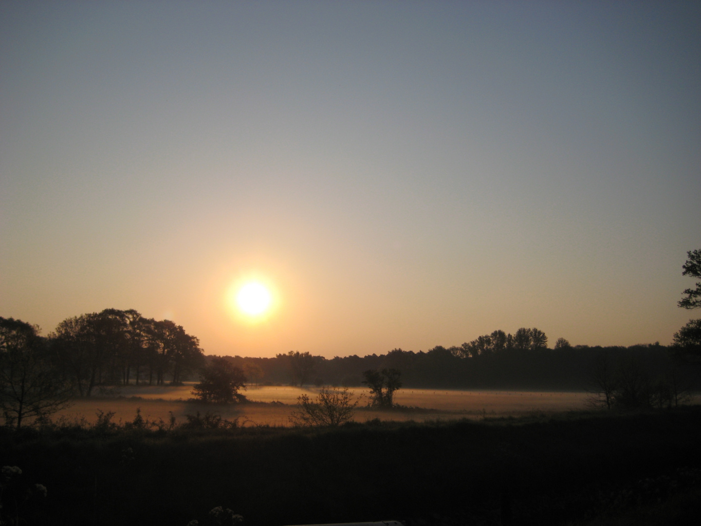
[[(142, 417), (150, 420), (168, 421), (170, 412), (178, 423), (185, 420), (186, 414), (216, 412), (226, 419), (239, 418), (245, 425), (268, 424), (271, 426), (290, 425), (290, 413), (294, 410), (297, 397), (307, 394), (310, 398), (318, 393), (318, 388), (290, 386), (249, 386), (245, 391), (253, 403), (236, 405), (206, 405), (191, 398), (192, 384), (184, 386), (126, 386), (112, 396), (95, 396), (76, 400), (74, 405), (58, 416), (69, 419), (85, 418), (94, 422), (98, 410), (114, 412), (114, 421), (127, 422), (134, 418), (137, 408)], [(533, 413), (552, 414), (569, 410), (582, 410), (587, 393), (582, 392), (536, 392), (536, 391), (450, 391), (434, 389), (400, 389), (395, 401), (402, 408), (393, 411), (379, 411), (367, 407), (367, 389), (352, 388), (360, 397), (356, 422), (381, 420), (424, 422), (435, 419), (460, 419), (482, 417), (519, 417)]]

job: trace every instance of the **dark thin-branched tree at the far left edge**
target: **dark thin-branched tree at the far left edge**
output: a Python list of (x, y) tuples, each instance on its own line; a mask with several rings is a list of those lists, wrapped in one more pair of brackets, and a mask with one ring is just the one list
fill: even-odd
[(69, 405), (71, 389), (52, 367), (29, 323), (0, 318), (0, 408), (8, 424), (43, 418)]

